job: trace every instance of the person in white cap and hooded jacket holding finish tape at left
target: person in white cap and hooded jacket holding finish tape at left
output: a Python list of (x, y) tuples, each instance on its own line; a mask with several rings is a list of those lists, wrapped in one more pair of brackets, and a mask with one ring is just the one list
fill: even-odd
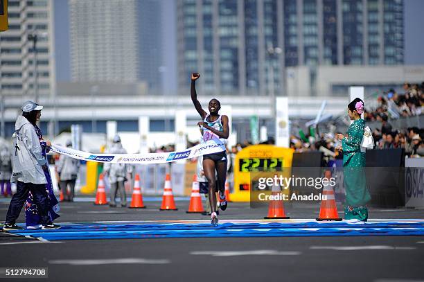
[[(22, 115), (17, 117), (15, 133), (12, 136), (12, 177), (10, 180), (17, 183), (17, 190), (10, 200), (3, 230), (22, 229), (16, 225), (16, 220), (29, 192), (37, 204), (42, 229), (58, 229), (59, 226), (53, 224), (48, 216), (50, 206), (46, 191), (47, 180), (43, 171), (43, 167), (46, 166), (46, 158), (42, 155), (42, 147), (34, 127), (34, 124), (39, 121), (43, 107), (32, 101), (26, 101), (21, 109)], [(47, 146), (51, 146), (50, 142), (46, 143)]]

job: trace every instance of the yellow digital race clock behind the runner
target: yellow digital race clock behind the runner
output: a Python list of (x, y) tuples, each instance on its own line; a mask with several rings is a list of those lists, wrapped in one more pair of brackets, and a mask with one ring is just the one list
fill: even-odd
[(273, 145), (254, 145), (237, 153), (234, 164), (234, 193), (231, 201), (249, 202), (252, 173), (290, 174), (294, 150)]

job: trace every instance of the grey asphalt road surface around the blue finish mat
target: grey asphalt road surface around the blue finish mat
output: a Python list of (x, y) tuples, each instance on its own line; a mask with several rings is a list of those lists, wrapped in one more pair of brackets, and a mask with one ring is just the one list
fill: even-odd
[[(60, 222), (198, 220), (179, 211), (62, 203)], [(8, 202), (0, 202), (6, 215)], [(292, 218), (315, 218), (319, 204), (286, 206)], [(339, 209), (341, 211), (342, 209)], [(222, 219), (262, 219), (267, 211), (230, 203)], [(370, 218), (424, 218), (421, 210), (371, 209)], [(24, 222), (23, 212), (18, 222)], [(0, 234), (0, 267), (48, 267), (30, 281), (424, 281), (424, 236), (177, 238), (41, 242)], [(1, 279), (7, 281), (7, 279)], [(26, 281), (26, 279), (10, 279)]]

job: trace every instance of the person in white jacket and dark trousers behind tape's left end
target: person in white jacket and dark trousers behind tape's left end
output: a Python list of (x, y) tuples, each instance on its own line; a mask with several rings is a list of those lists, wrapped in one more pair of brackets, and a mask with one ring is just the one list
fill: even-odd
[[(72, 141), (68, 140), (66, 145), (68, 148), (72, 147)], [(56, 171), (59, 174), (59, 187), (60, 190), (63, 191), (63, 200), (65, 202), (73, 202), (78, 170), (80, 170), (80, 161), (78, 159), (60, 155), (59, 160), (56, 163)]]

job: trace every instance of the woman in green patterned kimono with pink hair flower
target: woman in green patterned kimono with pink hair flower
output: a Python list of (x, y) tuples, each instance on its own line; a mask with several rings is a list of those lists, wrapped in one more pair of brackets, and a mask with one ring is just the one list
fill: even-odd
[(342, 140), (342, 146), (339, 146), (339, 149), (343, 150), (344, 188), (346, 189), (344, 219), (346, 220), (368, 220), (366, 203), (371, 200), (371, 196), (366, 188), (365, 152), (361, 151), (365, 128), (365, 121), (361, 118), (363, 112), (364, 101), (355, 98), (348, 105), (348, 116), (353, 123), (349, 126), (346, 136), (337, 134), (337, 139)]

